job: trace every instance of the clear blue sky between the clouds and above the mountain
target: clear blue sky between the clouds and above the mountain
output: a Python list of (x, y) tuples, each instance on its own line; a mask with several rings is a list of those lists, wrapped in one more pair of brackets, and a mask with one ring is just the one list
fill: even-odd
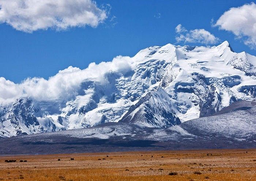
[(212, 19), (216, 23), (231, 7), (240, 7), (252, 1), (96, 2), (99, 8), (102, 5), (108, 7), (106, 4), (111, 6), (108, 18), (97, 27), (73, 27), (60, 31), (48, 28), (29, 33), (16, 30), (5, 22), (0, 24), (0, 77), (15, 83), (27, 77), (47, 79), (70, 65), (84, 69), (91, 62), (111, 61), (117, 55), (133, 56), (148, 46), (167, 43), (203, 45), (176, 43), (175, 28), (178, 24), (188, 31), (209, 31), (218, 37), (216, 45), (227, 40), (234, 51), (256, 55), (256, 50), (245, 45), (244, 39), (237, 38), (234, 31), (219, 30), (211, 23)]

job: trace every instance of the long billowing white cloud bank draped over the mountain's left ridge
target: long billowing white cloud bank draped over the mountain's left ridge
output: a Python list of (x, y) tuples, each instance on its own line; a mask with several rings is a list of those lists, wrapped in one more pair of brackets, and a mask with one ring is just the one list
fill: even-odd
[(69, 66), (48, 80), (34, 77), (27, 78), (20, 84), (0, 77), (0, 104), (10, 103), (24, 96), (33, 97), (39, 101), (69, 100), (78, 95), (77, 91), (84, 80), (108, 84), (104, 74), (109, 72), (126, 74), (131, 71), (131, 63), (130, 57), (118, 56), (111, 62), (90, 63), (88, 68), (83, 70)]

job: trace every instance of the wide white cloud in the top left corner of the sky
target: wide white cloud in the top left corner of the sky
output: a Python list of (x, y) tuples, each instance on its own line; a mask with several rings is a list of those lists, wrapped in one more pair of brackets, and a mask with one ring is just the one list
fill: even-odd
[(0, 23), (25, 32), (97, 27), (107, 16), (92, 0), (0, 0)]

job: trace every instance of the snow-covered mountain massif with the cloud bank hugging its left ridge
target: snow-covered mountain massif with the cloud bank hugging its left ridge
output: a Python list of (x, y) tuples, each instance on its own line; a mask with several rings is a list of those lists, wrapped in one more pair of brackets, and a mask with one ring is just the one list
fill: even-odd
[[(89, 73), (95, 67), (101, 71)], [(238, 100), (255, 99), (256, 57), (234, 53), (227, 41), (213, 47), (167, 44), (84, 70), (61, 70), (41, 81), (45, 90), (38, 82), (7, 82), (16, 92), (0, 99), (0, 136), (118, 121), (166, 128), (209, 116)]]

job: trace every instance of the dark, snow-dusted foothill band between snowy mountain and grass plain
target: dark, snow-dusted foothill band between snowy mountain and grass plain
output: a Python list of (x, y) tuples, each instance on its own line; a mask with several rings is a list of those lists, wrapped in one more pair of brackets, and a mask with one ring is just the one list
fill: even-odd
[(256, 147), (256, 102), (238, 101), (214, 116), (169, 128), (105, 123), (90, 128), (0, 138), (0, 154)]

